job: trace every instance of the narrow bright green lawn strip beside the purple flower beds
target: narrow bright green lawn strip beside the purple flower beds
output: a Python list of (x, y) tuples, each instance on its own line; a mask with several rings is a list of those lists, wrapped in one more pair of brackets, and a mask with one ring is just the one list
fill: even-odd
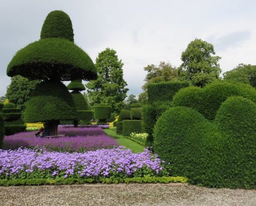
[(131, 149), (133, 153), (142, 152), (145, 149), (145, 147), (142, 145), (125, 138), (121, 134), (116, 134), (116, 132), (111, 129), (104, 129), (104, 131), (112, 138), (115, 138), (121, 146), (125, 146), (127, 149)]

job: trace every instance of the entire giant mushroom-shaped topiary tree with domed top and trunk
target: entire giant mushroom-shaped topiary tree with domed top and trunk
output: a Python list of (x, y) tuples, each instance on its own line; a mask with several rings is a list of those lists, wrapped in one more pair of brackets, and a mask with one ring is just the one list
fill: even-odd
[(60, 119), (76, 118), (72, 96), (61, 81), (97, 78), (92, 59), (73, 42), (73, 28), (63, 11), (52, 11), (43, 23), (39, 41), (19, 50), (7, 75), (43, 80), (32, 92), (24, 112), (25, 122), (46, 122), (57, 134)]

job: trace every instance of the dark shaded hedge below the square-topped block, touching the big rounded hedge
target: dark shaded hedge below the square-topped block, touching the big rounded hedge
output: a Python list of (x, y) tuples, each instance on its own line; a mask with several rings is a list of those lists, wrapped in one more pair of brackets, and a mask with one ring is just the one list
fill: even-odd
[(142, 109), (142, 126), (143, 130), (148, 133), (146, 145), (152, 146), (153, 144), (153, 128), (156, 124), (158, 117), (171, 107), (170, 101), (156, 101), (153, 104), (147, 104)]

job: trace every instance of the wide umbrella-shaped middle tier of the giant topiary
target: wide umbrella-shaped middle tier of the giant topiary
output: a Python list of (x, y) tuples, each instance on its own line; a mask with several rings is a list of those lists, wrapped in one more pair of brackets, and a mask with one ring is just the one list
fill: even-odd
[(92, 59), (76, 44), (63, 38), (41, 39), (19, 50), (7, 67), (7, 75), (30, 79), (97, 78)]

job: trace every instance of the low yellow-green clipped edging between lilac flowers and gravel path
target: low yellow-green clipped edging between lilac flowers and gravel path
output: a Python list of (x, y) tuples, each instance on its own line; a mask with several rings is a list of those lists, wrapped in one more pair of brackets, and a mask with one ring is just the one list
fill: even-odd
[(133, 177), (133, 178), (56, 178), (56, 179), (0, 179), (0, 186), (18, 186), (18, 185), (61, 185), (61, 184), (85, 184), (85, 183), (186, 183), (186, 177)]

